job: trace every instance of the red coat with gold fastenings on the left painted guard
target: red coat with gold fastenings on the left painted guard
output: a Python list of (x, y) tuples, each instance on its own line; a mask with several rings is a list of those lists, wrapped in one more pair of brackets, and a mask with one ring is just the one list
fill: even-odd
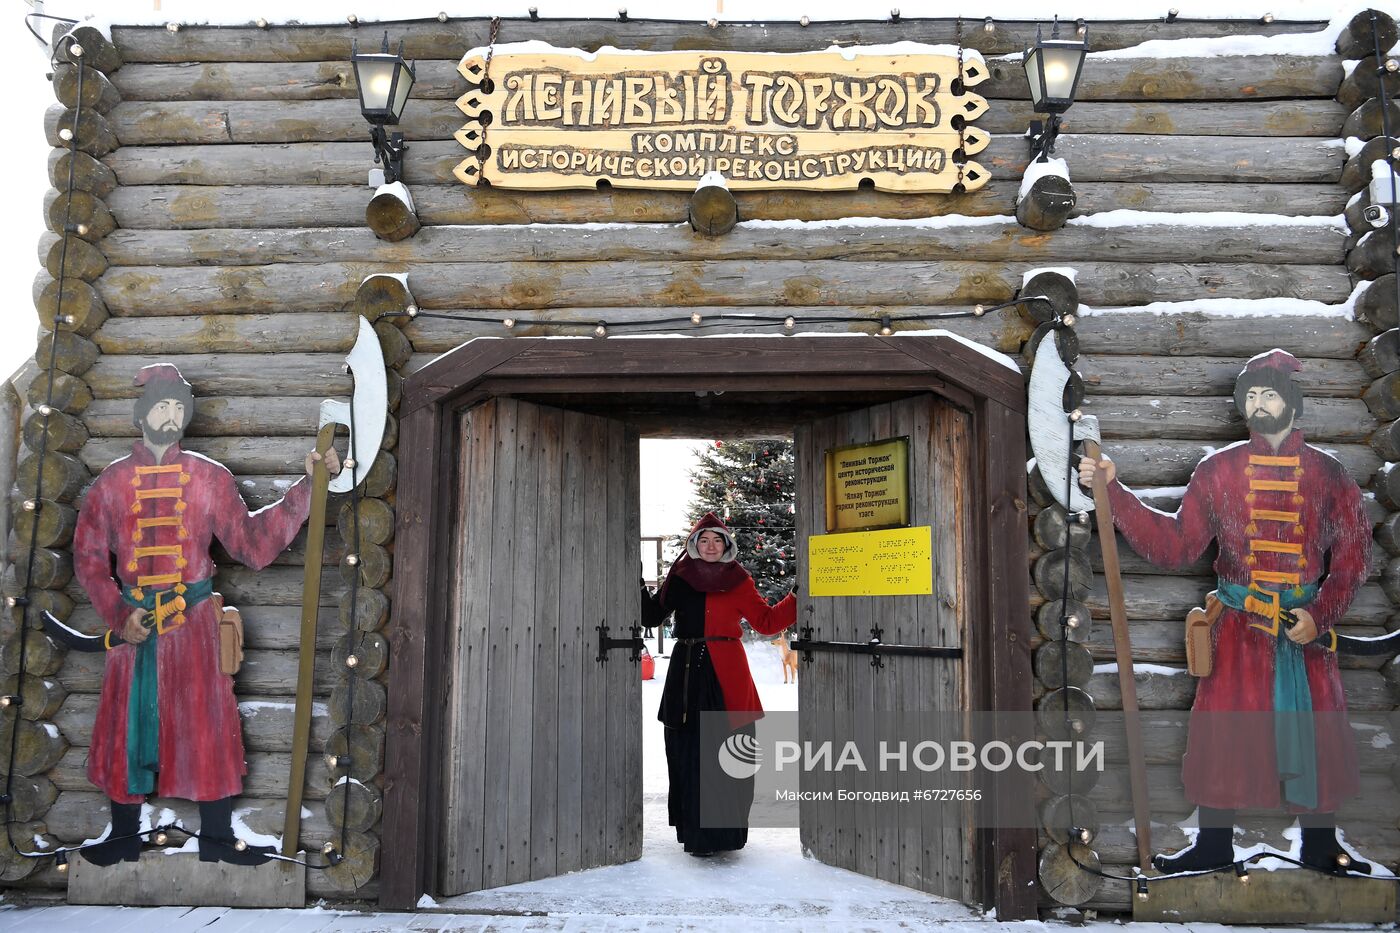
[[(102, 471), (87, 493), (73, 538), (74, 572), (108, 628), (120, 632), (132, 611), (112, 579), (143, 590), (168, 590), (214, 574), (213, 538), (255, 570), (272, 563), (297, 535), (311, 503), (311, 486), (298, 481), (286, 497), (248, 513), (234, 475), (221, 464), (181, 450), (157, 465), (137, 441), (132, 454)], [(234, 678), (218, 670), (218, 619), (209, 600), (193, 605), (185, 622), (157, 639), (160, 772), (155, 794), (220, 800), (242, 792), (242, 727)], [(118, 803), (140, 803), (127, 793), (126, 720), (136, 649), (106, 653), (102, 698), (88, 749), (88, 780)]]

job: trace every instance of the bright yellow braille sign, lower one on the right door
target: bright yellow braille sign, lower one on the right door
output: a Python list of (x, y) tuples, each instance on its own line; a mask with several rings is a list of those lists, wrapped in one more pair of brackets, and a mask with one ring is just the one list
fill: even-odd
[(932, 595), (934, 531), (920, 525), (812, 535), (806, 566), (812, 595)]

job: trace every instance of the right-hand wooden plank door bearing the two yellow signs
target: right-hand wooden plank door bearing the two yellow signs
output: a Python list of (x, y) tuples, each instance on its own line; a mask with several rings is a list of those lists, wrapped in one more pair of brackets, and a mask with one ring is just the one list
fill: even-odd
[[(826, 451), (900, 436), (910, 438), (910, 521), (932, 527), (934, 594), (812, 597), (804, 587), (798, 626), (811, 625), (816, 640), (867, 642), (875, 625), (883, 629), (881, 639), (890, 644), (967, 644), (966, 558), (972, 553), (967, 525), (972, 416), (967, 412), (932, 395), (921, 395), (798, 426), (794, 437), (798, 553), (806, 553), (811, 535), (826, 531)], [(902, 737), (906, 724), (900, 723), (900, 713), (910, 720), (934, 710), (955, 713), (959, 728), (966, 728), (965, 660), (916, 656), (885, 656), (882, 660), (883, 668), (875, 668), (867, 654), (815, 651), (798, 679), (801, 737), (813, 738), (812, 723), (832, 717), (834, 730), (855, 740), (864, 756), (872, 740)], [(844, 737), (833, 738), (840, 748)], [(902, 789), (910, 792), (921, 786), (913, 770), (902, 780)], [(812, 772), (804, 790), (857, 789), (851, 782), (850, 773), (837, 778)], [(804, 801), (799, 825), (802, 846), (827, 864), (967, 904), (977, 901), (977, 862), (972, 850), (976, 836), (969, 804), (925, 804), (917, 820), (892, 825), (888, 818), (862, 814), (851, 804)]]

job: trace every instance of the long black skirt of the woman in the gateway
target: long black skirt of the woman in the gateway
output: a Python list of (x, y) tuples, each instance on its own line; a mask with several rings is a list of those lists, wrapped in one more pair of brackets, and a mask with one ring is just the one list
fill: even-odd
[[(720, 766), (721, 745), (734, 734), (729, 728), (714, 728), (714, 716), (704, 717), (710, 726), (701, 728), (700, 713), (722, 710), (724, 693), (708, 646), (678, 643), (662, 688), (659, 719), (671, 776), (666, 810), (676, 842), (686, 852), (742, 849), (749, 839), (753, 778), (734, 779)], [(752, 737), (753, 724), (736, 731)]]

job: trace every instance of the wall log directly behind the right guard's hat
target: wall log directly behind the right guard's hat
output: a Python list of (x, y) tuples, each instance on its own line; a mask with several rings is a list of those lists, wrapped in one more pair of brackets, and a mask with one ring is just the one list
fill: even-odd
[[(1351, 360), (1301, 359), (1302, 371), (1294, 380), (1309, 399), (1319, 396), (1355, 398), (1368, 384), (1366, 373)], [(1075, 368), (1085, 392), (1095, 395), (1231, 395), (1243, 363), (1222, 356), (1114, 356), (1084, 353)], [(1376, 378), (1372, 375), (1371, 378)], [(92, 377), (88, 377), (91, 381)], [(94, 392), (101, 395), (97, 384)]]

